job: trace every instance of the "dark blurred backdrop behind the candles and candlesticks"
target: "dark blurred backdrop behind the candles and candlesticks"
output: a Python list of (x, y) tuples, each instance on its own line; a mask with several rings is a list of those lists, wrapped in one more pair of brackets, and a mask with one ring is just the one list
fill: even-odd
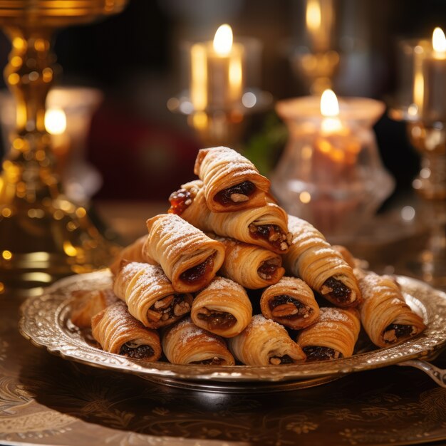
[[(249, 36), (260, 41), (259, 87), (274, 101), (308, 94), (308, 85), (292, 63), (293, 53), (306, 44), (305, 3), (130, 0), (122, 14), (58, 31), (58, 85), (83, 85), (103, 93), (85, 142), (85, 157), (100, 175), (100, 186), (96, 178), (91, 188), (93, 198), (164, 201), (173, 188), (190, 180), (200, 142), (185, 116), (171, 113), (166, 103), (184, 83), (182, 43), (212, 39), (222, 23), (232, 26), (234, 39)], [(338, 95), (386, 103), (398, 86), (398, 39), (430, 36), (446, 17), (442, 0), (332, 3), (336, 11), (332, 41), (342, 54), (333, 89)], [(9, 41), (1, 36), (2, 67), (9, 48)], [(5, 88), (4, 81), (0, 83)], [(274, 101), (251, 115), (242, 138), (247, 150), (266, 152), (264, 147), (269, 147), (261, 154), (266, 157), (265, 169), (274, 165), (286, 140)], [(385, 167), (396, 180), (393, 199), (410, 190), (418, 155), (408, 143), (404, 123), (384, 114), (374, 130)]]

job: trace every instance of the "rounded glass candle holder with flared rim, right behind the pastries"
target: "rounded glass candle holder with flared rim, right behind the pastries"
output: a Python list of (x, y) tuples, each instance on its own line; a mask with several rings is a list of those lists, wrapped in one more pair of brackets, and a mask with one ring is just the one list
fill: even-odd
[(372, 128), (383, 103), (349, 98), (326, 117), (320, 98), (308, 96), (279, 101), (276, 110), (289, 140), (271, 178), (274, 195), (331, 242), (348, 242), (393, 191)]

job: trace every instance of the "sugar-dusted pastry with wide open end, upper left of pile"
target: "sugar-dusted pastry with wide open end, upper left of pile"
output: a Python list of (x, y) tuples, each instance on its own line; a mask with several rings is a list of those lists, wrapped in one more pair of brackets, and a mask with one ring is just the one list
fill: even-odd
[(175, 214), (148, 219), (147, 229), (142, 253), (161, 265), (176, 291), (202, 289), (222, 266), (223, 244)]

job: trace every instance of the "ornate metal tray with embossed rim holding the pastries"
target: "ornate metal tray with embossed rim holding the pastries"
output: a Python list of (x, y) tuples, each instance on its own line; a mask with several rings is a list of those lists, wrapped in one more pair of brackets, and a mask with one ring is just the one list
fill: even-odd
[(50, 353), (71, 361), (195, 390), (227, 393), (292, 390), (327, 383), (348, 373), (395, 364), (420, 368), (444, 386), (445, 370), (421, 360), (435, 358), (446, 346), (446, 294), (405, 276), (398, 276), (398, 282), (408, 304), (424, 318), (427, 324), (425, 331), (399, 346), (378, 349), (365, 344), (351, 358), (320, 363), (267, 367), (175, 365), (125, 358), (102, 351), (88, 343), (88, 337), (73, 326), (69, 314), (71, 293), (110, 285), (108, 270), (61, 279), (41, 296), (29, 298), (21, 306), (19, 330), (36, 346), (45, 347)]

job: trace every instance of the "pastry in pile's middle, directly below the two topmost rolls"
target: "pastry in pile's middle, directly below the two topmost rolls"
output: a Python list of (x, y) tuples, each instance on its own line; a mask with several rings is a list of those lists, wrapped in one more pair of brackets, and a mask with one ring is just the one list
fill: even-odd
[(245, 288), (259, 289), (276, 284), (285, 274), (279, 254), (229, 237), (217, 237), (217, 240), (225, 248), (219, 274)]

